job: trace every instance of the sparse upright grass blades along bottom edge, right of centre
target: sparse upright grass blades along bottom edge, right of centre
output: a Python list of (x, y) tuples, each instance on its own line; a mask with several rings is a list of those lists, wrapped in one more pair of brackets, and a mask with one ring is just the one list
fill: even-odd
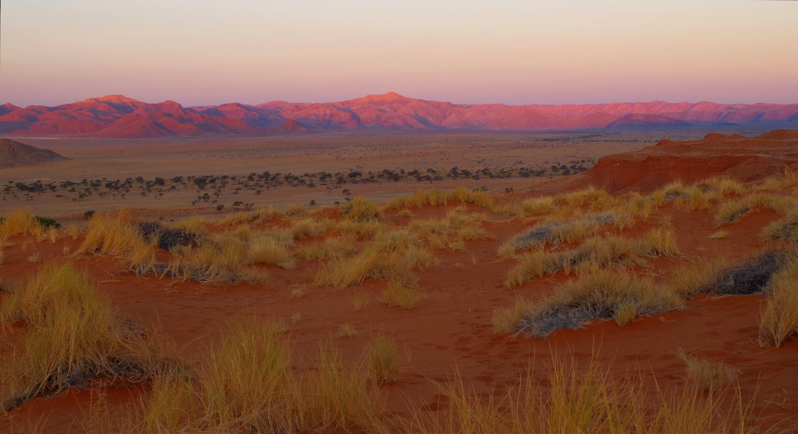
[[(585, 434), (657, 432), (662, 434), (742, 434), (764, 429), (753, 421), (753, 400), (737, 391), (705, 394), (696, 388), (662, 391), (654, 403), (644, 397), (644, 378), (630, 373), (610, 377), (606, 365), (591, 361), (581, 368), (558, 359), (547, 366), (539, 387), (532, 369), (502, 393), (469, 386), (460, 375), (439, 384), (447, 397), (447, 414), (417, 412), (401, 420), (403, 434)], [(731, 399), (729, 399), (731, 398)], [(725, 402), (732, 401), (730, 408)], [(767, 430), (764, 430), (767, 432)]]

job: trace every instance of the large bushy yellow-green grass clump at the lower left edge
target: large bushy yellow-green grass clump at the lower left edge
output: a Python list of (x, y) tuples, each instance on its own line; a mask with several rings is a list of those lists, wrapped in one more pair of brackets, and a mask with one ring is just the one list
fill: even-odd
[(73, 266), (45, 265), (6, 299), (3, 320), (22, 319), (24, 349), (6, 354), (0, 377), (9, 385), (6, 410), (26, 400), (87, 387), (90, 381), (148, 381), (178, 369), (152, 333), (120, 318), (86, 274)]

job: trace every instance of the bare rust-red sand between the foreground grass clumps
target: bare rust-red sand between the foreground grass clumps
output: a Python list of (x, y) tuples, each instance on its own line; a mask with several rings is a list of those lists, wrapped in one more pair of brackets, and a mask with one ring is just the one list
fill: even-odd
[[(440, 216), (445, 211), (444, 207), (426, 208), (418, 210), (416, 216)], [(727, 227), (727, 238), (708, 239), (717, 231), (709, 212), (663, 207), (648, 222), (618, 234), (641, 236), (663, 219), (670, 219), (678, 228), (678, 245), (688, 258), (729, 252), (747, 256), (762, 247), (758, 234), (777, 218), (772, 212), (755, 213)], [(684, 350), (725, 361), (737, 369), (741, 393), (746, 400), (753, 399), (757, 416), (765, 420), (798, 416), (798, 396), (794, 393), (798, 377), (792, 375), (798, 368), (798, 342), (778, 349), (757, 345), (760, 296), (701, 296), (689, 301), (685, 310), (641, 318), (625, 328), (614, 322), (598, 322), (580, 330), (559, 331), (546, 341), (494, 334), (491, 317), (496, 308), (508, 306), (519, 297), (539, 297), (567, 279), (556, 274), (532, 279), (516, 290), (504, 286), (504, 277), (515, 261), (497, 257), (496, 250), (527, 226), (489, 215), (485, 223), (488, 239), (468, 242), (462, 252), (437, 251), (440, 264), (420, 274), (428, 299), (414, 310), (385, 306), (379, 295), (385, 282), (380, 280), (368, 280), (346, 290), (314, 286), (319, 267), (314, 261), (300, 262), (294, 270), (267, 267), (271, 283), (262, 288), (136, 277), (120, 273), (122, 264), (115, 258), (80, 255), (73, 260), (99, 282), (120, 312), (141, 324), (157, 325), (189, 360), (201, 358), (208, 345), (219, 340), (227, 322), (242, 315), (278, 318), (290, 324), (292, 315), (300, 314), (302, 319), (290, 326), (297, 357), (312, 357), (319, 341), (333, 341), (345, 358), (353, 359), (376, 333), (389, 333), (410, 355), (404, 373), (385, 390), (390, 408), (398, 412), (406, 412), (408, 404), (426, 412), (448, 408), (448, 401), (430, 379), (446, 381), (457, 371), (468, 385), (501, 391), (514, 384), (530, 365), (534, 365), (535, 376), (543, 378), (546, 362), (555, 357), (575, 357), (579, 363), (595, 357), (606, 363), (614, 376), (642, 372), (650, 386), (646, 397), (653, 400), (658, 393), (655, 384), (668, 390), (684, 387), (685, 366), (677, 357)], [(4, 278), (25, 278), (41, 266), (29, 262), (30, 254), (38, 253), (46, 262), (61, 257), (65, 247), (73, 251), (80, 242), (80, 238), (65, 238), (38, 243), (30, 237), (15, 237), (4, 250), (6, 261), (0, 265), (0, 273)], [(679, 260), (653, 259), (639, 272), (666, 282)], [(305, 295), (291, 298), (291, 290), (297, 288)], [(370, 295), (368, 304), (355, 312), (351, 296), (357, 290)], [(345, 323), (354, 325), (359, 336), (334, 337), (337, 327)], [(14, 336), (24, 332), (24, 326), (12, 323), (3, 330), (6, 342), (13, 342)], [(9, 351), (8, 345), (2, 350)], [(142, 393), (141, 389), (113, 388), (102, 392), (109, 395), (110, 403), (132, 402)], [(86, 432), (89, 402), (97, 396), (97, 390), (70, 391), (60, 397), (34, 400), (11, 412), (10, 419), (0, 423), (0, 432), (12, 432), (13, 426), (36, 420), (45, 420), (45, 432)]]

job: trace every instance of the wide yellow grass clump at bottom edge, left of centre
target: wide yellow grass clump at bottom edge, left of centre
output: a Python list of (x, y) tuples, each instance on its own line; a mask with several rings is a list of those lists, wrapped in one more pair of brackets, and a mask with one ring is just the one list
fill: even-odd
[(358, 366), (322, 346), (313, 368), (291, 369), (279, 323), (235, 325), (193, 377), (160, 377), (143, 403), (148, 432), (323, 432), (370, 428), (384, 397)]

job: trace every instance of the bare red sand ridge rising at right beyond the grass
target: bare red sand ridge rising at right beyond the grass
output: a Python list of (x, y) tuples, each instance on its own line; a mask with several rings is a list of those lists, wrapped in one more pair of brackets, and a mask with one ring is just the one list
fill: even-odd
[(760, 136), (707, 134), (701, 140), (660, 140), (639, 151), (604, 156), (595, 168), (549, 183), (545, 190), (588, 185), (608, 191), (651, 191), (675, 180), (695, 182), (729, 176), (750, 182), (785, 168), (798, 169), (798, 130)]

